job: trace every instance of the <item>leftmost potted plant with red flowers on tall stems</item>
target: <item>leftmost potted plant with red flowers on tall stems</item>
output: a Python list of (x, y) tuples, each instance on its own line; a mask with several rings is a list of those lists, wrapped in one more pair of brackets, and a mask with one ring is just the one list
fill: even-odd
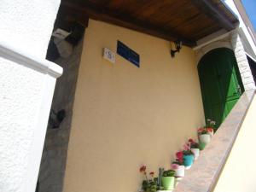
[(142, 189), (145, 192), (155, 192), (158, 189), (158, 178), (154, 177), (154, 172), (150, 172), (150, 178), (148, 179), (146, 166), (140, 167), (140, 172), (143, 173), (145, 179), (143, 180)]

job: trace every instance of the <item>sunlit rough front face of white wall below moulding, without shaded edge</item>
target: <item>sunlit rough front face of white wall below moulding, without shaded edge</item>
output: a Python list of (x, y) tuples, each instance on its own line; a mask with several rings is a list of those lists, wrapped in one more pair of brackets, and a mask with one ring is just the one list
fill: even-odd
[(0, 191), (15, 192), (26, 171), (44, 74), (3, 58), (0, 63)]

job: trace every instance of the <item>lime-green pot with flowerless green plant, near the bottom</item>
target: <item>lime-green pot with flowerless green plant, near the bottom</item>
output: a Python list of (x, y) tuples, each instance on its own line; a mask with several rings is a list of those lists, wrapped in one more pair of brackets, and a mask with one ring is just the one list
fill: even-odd
[(173, 190), (175, 184), (175, 171), (174, 170), (167, 170), (163, 172), (161, 178), (161, 184), (164, 190)]

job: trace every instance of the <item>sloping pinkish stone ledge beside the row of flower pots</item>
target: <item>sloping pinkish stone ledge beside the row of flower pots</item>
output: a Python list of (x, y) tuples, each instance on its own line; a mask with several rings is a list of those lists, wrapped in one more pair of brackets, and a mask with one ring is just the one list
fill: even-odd
[(236, 106), (212, 137), (211, 143), (201, 152), (200, 158), (186, 172), (186, 176), (173, 192), (212, 191), (230, 155), (254, 94), (254, 90), (242, 94)]

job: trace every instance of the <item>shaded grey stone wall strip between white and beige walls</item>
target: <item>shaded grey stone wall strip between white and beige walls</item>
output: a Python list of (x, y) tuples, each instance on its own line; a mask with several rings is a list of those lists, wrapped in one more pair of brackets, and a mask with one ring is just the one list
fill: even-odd
[(66, 118), (59, 129), (47, 130), (44, 153), (42, 155), (40, 172), (38, 176), (39, 192), (61, 192), (67, 160), (67, 144), (73, 115), (73, 100), (76, 82), (79, 73), (79, 63), (83, 42), (73, 49), (68, 58), (55, 61), (63, 67), (61, 78), (57, 79), (52, 109), (55, 111), (65, 109)]

